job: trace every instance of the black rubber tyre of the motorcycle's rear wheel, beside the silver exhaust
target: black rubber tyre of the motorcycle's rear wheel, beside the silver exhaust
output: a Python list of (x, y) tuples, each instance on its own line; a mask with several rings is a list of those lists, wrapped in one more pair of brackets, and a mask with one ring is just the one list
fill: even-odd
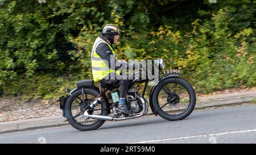
[[(95, 97), (100, 95), (99, 91), (94, 90), (94, 89), (89, 89), (89, 88), (84, 88), (84, 93), (91, 94)], [(72, 93), (73, 97), (78, 97), (81, 94), (82, 94), (82, 89), (77, 89)], [(72, 103), (74, 103), (73, 100), (74, 99), (69, 96), (67, 98), (67, 101), (65, 102), (64, 110), (65, 110), (65, 115), (66, 115), (67, 119), (72, 118), (72, 116), (73, 116), (72, 111), (71, 111), (71, 105), (72, 105)], [(107, 104), (106, 104), (105, 99), (102, 100), (102, 102), (99, 103), (99, 104), (101, 104), (101, 107), (103, 109), (107, 108)], [(105, 116), (108, 115), (107, 110), (102, 110), (101, 115), (105, 115)], [(104, 122), (105, 122), (105, 120), (97, 120), (97, 122), (92, 124), (92, 125), (83, 125), (83, 124), (80, 124), (79, 122), (77, 122), (75, 119), (68, 120), (68, 123), (71, 124), (72, 127), (76, 128), (80, 131), (89, 131), (89, 130), (97, 129), (97, 128), (101, 127), (101, 125)]]

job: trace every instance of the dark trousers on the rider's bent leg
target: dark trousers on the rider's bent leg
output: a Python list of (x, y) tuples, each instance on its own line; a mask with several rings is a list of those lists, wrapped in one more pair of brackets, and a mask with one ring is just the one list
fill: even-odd
[[(112, 73), (110, 73), (112, 74)], [(113, 76), (113, 74), (112, 74)], [(114, 87), (119, 87), (119, 93), (120, 93), (120, 98), (125, 98), (127, 94), (127, 90), (131, 84), (130, 79), (121, 79), (121, 76), (118, 76), (118, 74), (114, 73), (114, 76), (116, 77), (115, 79), (110, 79), (110, 75), (107, 76), (108, 78), (101, 79), (101, 83), (105, 83), (106, 85), (112, 85)]]

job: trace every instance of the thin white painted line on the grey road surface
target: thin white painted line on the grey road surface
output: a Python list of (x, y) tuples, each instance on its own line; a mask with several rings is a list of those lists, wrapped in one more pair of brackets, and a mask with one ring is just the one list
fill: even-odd
[(139, 142), (130, 143), (130, 144), (153, 143), (153, 142), (159, 142), (159, 141), (170, 141), (170, 140), (181, 140), (181, 139), (193, 139), (193, 138), (197, 138), (197, 137), (207, 137), (207, 136), (222, 136), (222, 135), (228, 135), (228, 134), (234, 134), (234, 133), (255, 132), (255, 131), (256, 131), (256, 129), (248, 129), (248, 130), (243, 130), (243, 131), (213, 133), (213, 134), (209, 134), (209, 135), (188, 136), (188, 137), (179, 137), (179, 138), (162, 139), (162, 140), (139, 141)]

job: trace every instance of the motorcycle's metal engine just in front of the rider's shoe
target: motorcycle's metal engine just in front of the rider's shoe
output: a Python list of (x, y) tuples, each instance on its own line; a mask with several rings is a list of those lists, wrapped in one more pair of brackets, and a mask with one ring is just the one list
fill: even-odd
[(141, 100), (137, 98), (138, 90), (135, 88), (131, 88), (127, 91), (127, 102), (130, 110), (133, 113), (139, 113), (142, 111), (142, 103)]

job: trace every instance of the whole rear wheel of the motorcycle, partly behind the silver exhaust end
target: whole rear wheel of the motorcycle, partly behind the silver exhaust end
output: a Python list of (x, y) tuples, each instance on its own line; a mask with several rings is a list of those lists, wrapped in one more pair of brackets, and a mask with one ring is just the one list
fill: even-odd
[[(82, 89), (84, 89), (84, 97), (82, 97)], [(105, 120), (98, 120), (98, 119), (86, 119), (84, 120), (83, 114), (85, 111), (85, 107), (92, 102), (100, 92), (94, 89), (89, 88), (81, 88), (77, 89), (72, 93), (73, 97), (69, 96), (65, 103), (65, 114), (67, 119), (74, 117), (73, 119), (68, 120), (69, 124), (72, 127), (80, 130), (80, 131), (88, 131), (99, 128)], [(84, 102), (82, 102), (84, 99)], [(101, 103), (98, 103), (94, 110), (88, 111), (89, 115), (96, 114), (96, 115), (108, 115), (107, 110), (97, 110), (97, 109), (106, 109), (106, 101), (103, 99)]]

